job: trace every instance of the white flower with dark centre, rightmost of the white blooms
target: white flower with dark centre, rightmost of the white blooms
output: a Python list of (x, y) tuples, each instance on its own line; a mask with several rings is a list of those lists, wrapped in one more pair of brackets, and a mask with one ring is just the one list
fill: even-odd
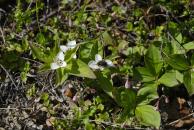
[(104, 67), (114, 67), (111, 60), (103, 60), (99, 54), (95, 55), (95, 60), (88, 63), (88, 66), (94, 70), (103, 70)]

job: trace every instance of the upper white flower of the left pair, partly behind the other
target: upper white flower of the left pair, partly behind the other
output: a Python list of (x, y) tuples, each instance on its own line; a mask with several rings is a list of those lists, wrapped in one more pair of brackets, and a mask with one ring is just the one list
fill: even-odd
[[(69, 42), (67, 43), (67, 45), (61, 45), (61, 46), (60, 46), (60, 49), (61, 49), (62, 52), (65, 53), (66, 51), (68, 51), (68, 50), (70, 50), (70, 49), (74, 49), (75, 47), (76, 47), (76, 41), (73, 40), (73, 41), (69, 41)], [(76, 55), (73, 55), (73, 58), (76, 59), (77, 56), (76, 56)]]

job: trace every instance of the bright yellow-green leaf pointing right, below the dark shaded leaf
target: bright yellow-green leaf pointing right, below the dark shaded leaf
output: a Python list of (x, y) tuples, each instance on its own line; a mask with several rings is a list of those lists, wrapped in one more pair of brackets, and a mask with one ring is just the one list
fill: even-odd
[(159, 83), (164, 84), (167, 87), (174, 87), (179, 84), (176, 71), (168, 71), (162, 75), (162, 77), (158, 80)]

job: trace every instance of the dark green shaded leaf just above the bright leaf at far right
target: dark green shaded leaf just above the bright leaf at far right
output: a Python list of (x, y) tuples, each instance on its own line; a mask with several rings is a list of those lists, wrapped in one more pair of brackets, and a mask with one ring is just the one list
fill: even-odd
[(169, 64), (172, 68), (177, 70), (187, 70), (189, 69), (189, 63), (184, 55), (174, 54), (174, 55), (165, 55), (164, 59), (167, 64)]

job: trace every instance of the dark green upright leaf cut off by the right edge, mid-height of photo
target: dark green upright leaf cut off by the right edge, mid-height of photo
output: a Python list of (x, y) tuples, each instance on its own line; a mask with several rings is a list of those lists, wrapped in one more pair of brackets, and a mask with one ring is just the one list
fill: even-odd
[(194, 72), (192, 70), (188, 70), (184, 73), (183, 83), (187, 89), (189, 95), (194, 94)]

